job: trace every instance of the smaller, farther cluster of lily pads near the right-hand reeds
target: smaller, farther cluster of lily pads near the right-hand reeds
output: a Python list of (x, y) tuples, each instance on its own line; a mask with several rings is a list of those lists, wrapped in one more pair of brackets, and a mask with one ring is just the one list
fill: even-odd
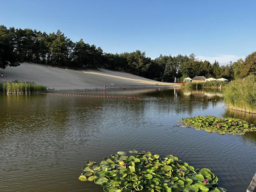
[(218, 118), (216, 116), (196, 116), (183, 118), (182, 123), (196, 129), (203, 129), (207, 132), (215, 132), (221, 135), (225, 133), (233, 135), (244, 135), (249, 131), (256, 131), (253, 124), (235, 118)]

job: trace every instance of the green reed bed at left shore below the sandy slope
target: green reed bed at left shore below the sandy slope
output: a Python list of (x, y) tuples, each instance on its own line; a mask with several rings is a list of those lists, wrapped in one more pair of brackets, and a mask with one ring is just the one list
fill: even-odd
[(44, 85), (34, 82), (0, 82), (0, 93), (6, 94), (29, 94), (29, 93), (45, 93)]

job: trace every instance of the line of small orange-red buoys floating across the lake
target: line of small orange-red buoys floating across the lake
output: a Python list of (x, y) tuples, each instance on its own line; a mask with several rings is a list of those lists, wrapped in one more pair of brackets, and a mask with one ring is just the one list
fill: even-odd
[[(87, 94), (66, 94), (66, 93), (43, 93), (43, 94), (49, 94), (49, 95), (63, 95), (63, 96), (81, 96), (81, 97), (93, 97), (93, 98), (121, 98), (121, 99), (140, 99), (140, 97), (131, 97), (131, 96), (102, 96), (102, 95), (87, 95)], [(155, 98), (155, 97), (151, 97), (151, 99), (159, 99), (159, 98)], [(167, 100), (167, 98), (160, 98), (160, 100)], [(168, 99), (170, 100), (170, 99)], [(173, 99), (178, 100), (178, 99)], [(185, 99), (185, 98), (181, 98), (181, 101), (185, 101), (185, 100), (191, 100), (191, 101), (217, 101), (217, 99)], [(219, 101), (219, 100), (218, 100)]]

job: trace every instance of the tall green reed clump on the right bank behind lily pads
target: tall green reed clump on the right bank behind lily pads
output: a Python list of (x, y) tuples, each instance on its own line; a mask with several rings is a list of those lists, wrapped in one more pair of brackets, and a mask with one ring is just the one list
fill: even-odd
[(226, 86), (223, 96), (229, 108), (256, 113), (256, 76), (232, 81)]

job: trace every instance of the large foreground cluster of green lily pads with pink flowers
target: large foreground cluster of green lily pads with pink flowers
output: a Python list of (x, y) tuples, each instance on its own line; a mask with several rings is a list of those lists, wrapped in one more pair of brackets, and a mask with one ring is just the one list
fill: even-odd
[(226, 192), (208, 168), (194, 168), (173, 155), (117, 152), (100, 163), (86, 162), (79, 180), (93, 181), (106, 192)]

